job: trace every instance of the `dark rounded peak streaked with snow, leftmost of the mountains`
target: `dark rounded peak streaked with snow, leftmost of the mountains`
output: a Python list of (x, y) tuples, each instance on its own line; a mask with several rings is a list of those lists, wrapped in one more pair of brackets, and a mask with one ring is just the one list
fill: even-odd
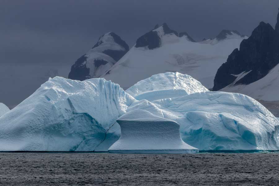
[(128, 50), (129, 46), (118, 35), (113, 32), (106, 33), (99, 38), (90, 51), (73, 64), (69, 78), (80, 81), (98, 78)]

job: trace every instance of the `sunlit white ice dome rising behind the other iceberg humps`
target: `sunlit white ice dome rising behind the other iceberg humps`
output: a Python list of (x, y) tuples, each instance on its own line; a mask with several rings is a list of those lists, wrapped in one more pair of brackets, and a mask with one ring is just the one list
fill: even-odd
[(180, 97), (196, 92), (209, 91), (196, 79), (187, 74), (166, 72), (137, 82), (126, 90), (137, 100), (159, 100)]

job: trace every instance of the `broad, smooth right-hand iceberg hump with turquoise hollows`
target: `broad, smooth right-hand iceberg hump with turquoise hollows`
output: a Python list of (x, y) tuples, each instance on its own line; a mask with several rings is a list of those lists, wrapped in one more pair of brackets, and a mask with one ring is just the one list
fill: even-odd
[(180, 124), (181, 138), (199, 150), (278, 150), (279, 122), (249, 96), (201, 92), (182, 97), (135, 101), (133, 109)]

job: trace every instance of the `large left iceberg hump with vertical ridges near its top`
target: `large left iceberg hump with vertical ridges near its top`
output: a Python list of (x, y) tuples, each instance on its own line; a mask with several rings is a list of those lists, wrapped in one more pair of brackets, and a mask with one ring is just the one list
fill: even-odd
[(94, 151), (135, 99), (103, 78), (49, 79), (0, 117), (0, 151)]

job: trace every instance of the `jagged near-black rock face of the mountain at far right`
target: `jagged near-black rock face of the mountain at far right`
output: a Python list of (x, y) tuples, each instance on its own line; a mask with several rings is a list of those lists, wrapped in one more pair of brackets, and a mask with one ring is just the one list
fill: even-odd
[(268, 23), (261, 22), (248, 39), (228, 56), (218, 69), (213, 91), (220, 90), (236, 80), (237, 74), (249, 72), (234, 83), (250, 84), (266, 76), (279, 63), (279, 34)]

